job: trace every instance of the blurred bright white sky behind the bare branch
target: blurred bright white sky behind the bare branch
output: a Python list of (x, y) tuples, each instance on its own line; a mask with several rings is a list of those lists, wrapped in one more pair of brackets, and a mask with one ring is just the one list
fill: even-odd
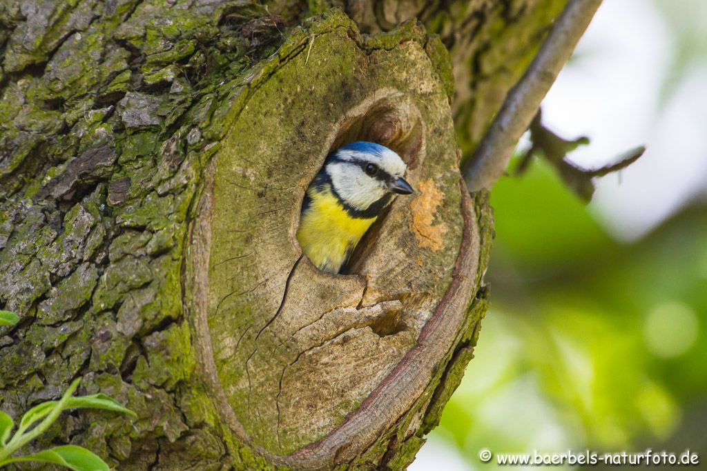
[[(707, 1), (672, 2), (688, 3), (707, 28)], [(641, 237), (707, 189), (707, 65), (692, 65), (666, 91), (677, 49), (669, 27), (653, 2), (604, 1), (543, 104), (551, 129), (590, 137), (571, 154), (580, 165), (600, 167), (636, 145), (648, 148), (597, 185), (592, 212), (619, 239)]]

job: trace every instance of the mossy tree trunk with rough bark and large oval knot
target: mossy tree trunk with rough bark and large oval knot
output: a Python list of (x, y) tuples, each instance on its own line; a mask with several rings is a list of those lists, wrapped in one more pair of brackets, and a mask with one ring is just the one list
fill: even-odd
[[(487, 307), (491, 213), (460, 160), (562, 3), (4, 0), (0, 409), (83, 376), (139, 418), (66, 415), (35, 448), (404, 469)], [(414, 16), (439, 36), (395, 28)], [(330, 275), (294, 234), (354, 140), (397, 150), (416, 193)]]

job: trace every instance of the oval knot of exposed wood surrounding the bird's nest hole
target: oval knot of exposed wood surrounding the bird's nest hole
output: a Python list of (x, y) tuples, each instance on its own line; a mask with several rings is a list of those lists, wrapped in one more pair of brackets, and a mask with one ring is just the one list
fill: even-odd
[[(394, 427), (479, 289), (468, 274), (481, 237), (423, 32), (410, 25), (382, 48), (351, 26), (310, 32), (313, 45), (293, 38), (299, 52), (250, 95), (216, 155), (210, 229), (199, 231), (210, 253), (197, 273), (209, 280), (199, 343), (218, 407), (240, 439), (298, 469), (354, 460)], [(359, 139), (398, 150), (418, 193), (378, 222), (355, 273), (321, 273), (293, 240), (301, 201), (329, 150)], [(415, 204), (431, 192), (435, 205)], [(445, 227), (438, 245), (410, 229), (420, 210)]]

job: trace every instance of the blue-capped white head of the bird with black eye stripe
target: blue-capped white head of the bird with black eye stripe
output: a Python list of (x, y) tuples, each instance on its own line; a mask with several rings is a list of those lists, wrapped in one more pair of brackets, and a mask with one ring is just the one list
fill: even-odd
[(334, 191), (356, 210), (367, 210), (390, 193), (412, 193), (414, 190), (403, 178), (406, 169), (405, 162), (393, 150), (363, 141), (346, 144), (329, 154), (325, 165)]

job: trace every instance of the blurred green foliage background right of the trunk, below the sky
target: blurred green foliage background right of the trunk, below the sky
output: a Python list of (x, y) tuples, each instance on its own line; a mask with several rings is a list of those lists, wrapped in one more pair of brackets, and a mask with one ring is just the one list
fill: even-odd
[(474, 467), (481, 448), (707, 451), (707, 206), (624, 245), (538, 160), (491, 202), (491, 312), (433, 434)]

